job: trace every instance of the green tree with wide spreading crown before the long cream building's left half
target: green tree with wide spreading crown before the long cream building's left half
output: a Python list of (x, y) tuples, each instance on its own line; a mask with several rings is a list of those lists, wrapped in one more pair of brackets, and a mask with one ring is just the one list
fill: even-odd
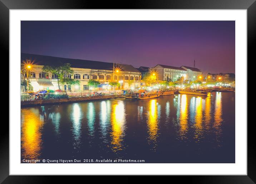
[[(63, 81), (63, 79), (67, 77), (68, 74), (73, 75), (74, 73), (69, 63), (65, 63), (61, 66), (43, 66), (42, 70), (43, 72), (46, 72), (46, 73), (50, 72), (57, 76), (59, 90), (60, 90), (60, 81), (61, 80)], [(69, 80), (69, 81), (72, 82), (72, 80)]]

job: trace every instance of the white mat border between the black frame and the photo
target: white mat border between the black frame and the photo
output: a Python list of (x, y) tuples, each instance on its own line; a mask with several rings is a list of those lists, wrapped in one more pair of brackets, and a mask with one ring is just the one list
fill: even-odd
[[(165, 174), (247, 175), (247, 10), (10, 10), (10, 175)], [(235, 20), (236, 163), (233, 164), (21, 164), (21, 20)], [(241, 97), (241, 98), (239, 98)], [(239, 108), (243, 107), (243, 108)], [(239, 108), (239, 109), (238, 109)]]

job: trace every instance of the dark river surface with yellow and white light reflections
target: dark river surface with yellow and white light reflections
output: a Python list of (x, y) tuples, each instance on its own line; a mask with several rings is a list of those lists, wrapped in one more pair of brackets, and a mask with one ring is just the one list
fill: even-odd
[(235, 92), (22, 108), (23, 159), (235, 163)]

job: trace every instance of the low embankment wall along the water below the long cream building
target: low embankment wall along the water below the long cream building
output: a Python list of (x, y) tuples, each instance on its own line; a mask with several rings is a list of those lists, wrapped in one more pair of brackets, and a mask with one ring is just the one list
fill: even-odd
[(102, 99), (112, 99), (112, 98), (122, 98), (122, 94), (113, 94), (105, 96), (89, 96), (89, 97), (75, 97), (75, 98), (61, 98), (61, 99), (41, 99), (33, 101), (21, 101), (21, 107), (31, 107), (31, 106), (42, 106), (50, 104), (60, 104), (60, 103), (73, 103), (73, 102), (85, 102), (85, 101), (94, 101)]

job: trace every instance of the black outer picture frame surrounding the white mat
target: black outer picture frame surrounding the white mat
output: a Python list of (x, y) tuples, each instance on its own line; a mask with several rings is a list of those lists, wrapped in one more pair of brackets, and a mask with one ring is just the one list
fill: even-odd
[[(255, 50), (253, 50), (253, 46), (256, 44), (255, 0), (139, 0), (125, 1), (125, 3), (124, 1), (102, 1), (99, 3), (88, 0), (0, 0), (0, 42), (5, 61), (9, 60), (10, 9), (246, 9), (247, 60), (255, 61)], [(51, 181), (55, 176), (9, 175), (9, 125), (4, 123), (2, 122), (3, 128), (0, 134), (0, 182), (46, 183)], [(187, 180), (192, 183), (256, 183), (255, 155), (255, 133), (252, 122), (250, 122), (247, 123), (247, 175), (173, 177), (178, 178), (180, 182)]]

